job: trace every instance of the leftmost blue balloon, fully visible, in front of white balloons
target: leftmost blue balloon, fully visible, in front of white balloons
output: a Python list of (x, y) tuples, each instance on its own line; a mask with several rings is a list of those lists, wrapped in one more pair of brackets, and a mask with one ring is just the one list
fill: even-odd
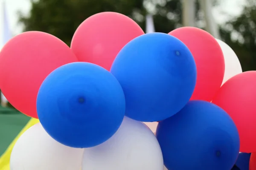
[(125, 115), (125, 96), (109, 71), (73, 62), (44, 80), (37, 112), (42, 126), (56, 141), (69, 147), (93, 147), (118, 130)]

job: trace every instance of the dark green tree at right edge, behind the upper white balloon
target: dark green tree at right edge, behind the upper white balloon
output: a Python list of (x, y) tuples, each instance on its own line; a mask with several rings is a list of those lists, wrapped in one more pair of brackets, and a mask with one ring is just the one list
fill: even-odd
[(221, 28), (221, 37), (239, 57), (243, 71), (256, 70), (256, 2), (247, 0), (240, 16)]

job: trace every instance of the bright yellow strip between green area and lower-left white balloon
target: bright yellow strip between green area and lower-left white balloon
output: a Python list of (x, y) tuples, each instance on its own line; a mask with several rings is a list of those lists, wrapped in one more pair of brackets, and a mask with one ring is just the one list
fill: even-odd
[(0, 170), (10, 170), (10, 157), (12, 153), (12, 148), (14, 147), (15, 143), (19, 139), (19, 137), (27, 130), (29, 127), (39, 123), (38, 119), (30, 119), (29, 122), (26, 124), (25, 127), (20, 131), (18, 136), (12, 141), (12, 143), (9, 145), (5, 153), (0, 157)]

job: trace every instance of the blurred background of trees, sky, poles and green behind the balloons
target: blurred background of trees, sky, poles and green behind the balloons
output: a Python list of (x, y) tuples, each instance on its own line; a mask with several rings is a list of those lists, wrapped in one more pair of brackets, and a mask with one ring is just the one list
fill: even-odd
[[(23, 31), (44, 31), (70, 45), (79, 24), (102, 11), (127, 15), (146, 33), (202, 28), (233, 48), (243, 71), (256, 70), (256, 0), (0, 0), (0, 48)], [(0, 155), (29, 121), (4, 96), (1, 104)]]

